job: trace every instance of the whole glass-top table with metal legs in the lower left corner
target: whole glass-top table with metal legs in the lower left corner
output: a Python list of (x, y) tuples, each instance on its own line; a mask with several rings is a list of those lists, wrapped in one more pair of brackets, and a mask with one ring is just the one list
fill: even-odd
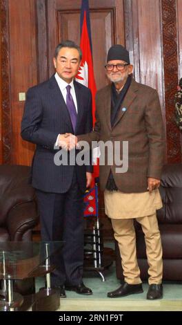
[[(6, 241), (0, 242), (0, 308), (15, 310), (23, 304), (23, 297), (13, 291), (13, 280), (45, 275), (45, 288), (39, 290), (34, 310), (46, 310), (44, 301), (52, 301), (51, 310), (58, 308), (59, 293), (50, 286), (50, 272), (54, 270), (63, 248), (63, 241)], [(53, 298), (52, 298), (53, 297)], [(38, 302), (37, 302), (38, 301)], [(41, 301), (41, 304), (40, 304)], [(36, 309), (37, 308), (37, 309)]]

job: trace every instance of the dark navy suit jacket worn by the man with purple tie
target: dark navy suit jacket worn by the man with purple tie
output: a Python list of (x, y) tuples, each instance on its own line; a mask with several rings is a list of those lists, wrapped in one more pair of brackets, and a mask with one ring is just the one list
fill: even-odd
[[(90, 89), (74, 81), (77, 96), (75, 134), (92, 131), (92, 97)], [(32, 163), (32, 185), (44, 192), (65, 193), (70, 188), (74, 168), (81, 190), (85, 190), (85, 173), (92, 166), (54, 164), (54, 144), (58, 134), (74, 133), (70, 115), (54, 75), (50, 80), (28, 90), (21, 136), (37, 145)]]

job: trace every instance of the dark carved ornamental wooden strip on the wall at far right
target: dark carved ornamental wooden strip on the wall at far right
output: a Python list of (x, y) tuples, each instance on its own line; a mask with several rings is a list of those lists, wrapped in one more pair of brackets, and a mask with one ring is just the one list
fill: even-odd
[(174, 95), (178, 84), (176, 0), (161, 0), (161, 16), (168, 163), (178, 163), (181, 161), (181, 137), (174, 116)]

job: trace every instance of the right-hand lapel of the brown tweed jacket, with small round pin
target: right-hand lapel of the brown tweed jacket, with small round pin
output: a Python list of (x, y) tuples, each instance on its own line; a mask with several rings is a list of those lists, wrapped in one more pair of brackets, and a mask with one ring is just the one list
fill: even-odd
[(134, 80), (132, 80), (132, 83), (128, 89), (127, 94), (125, 95), (125, 98), (119, 108), (119, 112), (117, 114), (117, 119), (114, 122), (113, 127), (115, 127), (118, 122), (121, 120), (121, 118), (123, 118), (124, 114), (128, 113), (128, 109), (130, 107), (130, 105), (132, 104), (134, 98), (136, 97), (136, 91), (137, 91), (137, 86), (136, 86), (136, 82)]

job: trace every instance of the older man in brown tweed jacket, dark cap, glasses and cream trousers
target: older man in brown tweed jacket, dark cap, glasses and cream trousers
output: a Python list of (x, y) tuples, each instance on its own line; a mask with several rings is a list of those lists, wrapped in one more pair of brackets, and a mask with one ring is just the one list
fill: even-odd
[(97, 92), (94, 131), (75, 139), (89, 144), (110, 141), (113, 147), (120, 143), (121, 150), (114, 149), (114, 155), (123, 164), (123, 142), (128, 142), (127, 171), (117, 172), (117, 164), (108, 163), (110, 150), (106, 147), (105, 164), (100, 166), (105, 213), (119, 243), (125, 280), (108, 297), (143, 292), (136, 260), (135, 219), (145, 234), (150, 285), (147, 299), (160, 299), (163, 263), (156, 210), (162, 206), (159, 185), (165, 145), (159, 96), (156, 90), (134, 81), (128, 50), (119, 44), (110, 48), (105, 70), (111, 84)]

